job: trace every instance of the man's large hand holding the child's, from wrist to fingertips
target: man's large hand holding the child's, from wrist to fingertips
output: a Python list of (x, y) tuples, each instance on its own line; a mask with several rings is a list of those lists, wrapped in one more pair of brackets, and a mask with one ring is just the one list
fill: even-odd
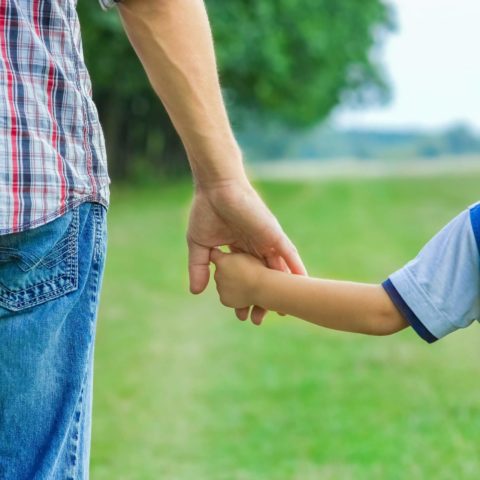
[[(250, 253), (269, 268), (306, 275), (297, 249), (247, 180), (196, 186), (187, 232), (190, 291), (205, 290), (210, 278), (210, 252), (227, 245)], [(246, 320), (250, 308), (236, 309)], [(266, 311), (254, 306), (251, 320), (259, 325)]]

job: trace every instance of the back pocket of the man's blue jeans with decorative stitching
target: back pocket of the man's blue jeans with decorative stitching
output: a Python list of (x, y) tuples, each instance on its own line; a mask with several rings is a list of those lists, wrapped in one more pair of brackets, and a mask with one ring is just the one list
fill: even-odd
[(0, 307), (19, 311), (78, 288), (79, 207), (0, 236)]

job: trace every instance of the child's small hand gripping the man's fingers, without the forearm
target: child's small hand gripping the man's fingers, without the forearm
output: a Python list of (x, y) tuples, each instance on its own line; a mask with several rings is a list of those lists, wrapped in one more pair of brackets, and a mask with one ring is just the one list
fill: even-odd
[(216, 248), (210, 260), (216, 267), (214, 278), (221, 303), (232, 308), (254, 305), (259, 276), (267, 267), (252, 255), (223, 253)]

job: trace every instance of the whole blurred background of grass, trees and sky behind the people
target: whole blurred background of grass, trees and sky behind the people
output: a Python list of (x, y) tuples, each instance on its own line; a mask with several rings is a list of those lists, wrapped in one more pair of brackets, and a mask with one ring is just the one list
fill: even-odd
[[(478, 0), (206, 0), (255, 186), (311, 275), (380, 282), (478, 200)], [(112, 203), (93, 479), (474, 479), (478, 328), (427, 346), (187, 288), (183, 147), (115, 10), (79, 2)]]

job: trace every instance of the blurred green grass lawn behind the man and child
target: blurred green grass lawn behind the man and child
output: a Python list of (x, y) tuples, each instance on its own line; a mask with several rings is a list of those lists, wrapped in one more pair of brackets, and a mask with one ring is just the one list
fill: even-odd
[[(261, 183), (310, 274), (379, 282), (480, 197), (480, 176)], [(93, 480), (477, 479), (480, 328), (427, 345), (187, 291), (190, 186), (113, 189)]]

